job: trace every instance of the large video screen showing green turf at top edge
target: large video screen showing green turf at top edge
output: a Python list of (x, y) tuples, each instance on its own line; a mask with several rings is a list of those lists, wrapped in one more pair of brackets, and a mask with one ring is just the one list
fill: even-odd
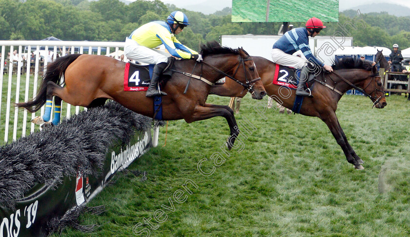
[(339, 21), (339, 0), (232, 0), (232, 22)]

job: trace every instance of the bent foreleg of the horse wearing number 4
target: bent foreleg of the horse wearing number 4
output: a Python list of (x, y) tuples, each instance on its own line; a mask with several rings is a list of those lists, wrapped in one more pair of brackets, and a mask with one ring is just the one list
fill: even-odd
[(216, 116), (222, 116), (228, 122), (230, 137), (228, 138), (226, 145), (230, 150), (235, 142), (236, 137), (239, 135), (238, 125), (236, 123), (235, 116), (233, 115), (233, 110), (231, 108), (223, 105), (212, 105), (205, 103), (205, 107), (197, 105), (194, 111), (184, 119), (187, 123), (191, 123), (194, 121), (205, 120)]

